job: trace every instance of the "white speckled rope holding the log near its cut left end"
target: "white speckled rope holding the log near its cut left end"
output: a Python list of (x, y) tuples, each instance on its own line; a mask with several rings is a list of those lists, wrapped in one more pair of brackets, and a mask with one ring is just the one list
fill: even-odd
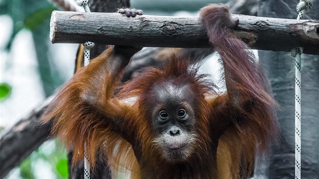
[[(85, 12), (91, 12), (88, 6), (89, 0), (76, 0), (78, 6), (82, 6)], [(90, 63), (90, 50), (94, 47), (94, 42), (86, 41), (84, 46), (84, 66)], [(90, 161), (87, 157), (87, 143), (84, 143), (84, 179), (90, 179)]]

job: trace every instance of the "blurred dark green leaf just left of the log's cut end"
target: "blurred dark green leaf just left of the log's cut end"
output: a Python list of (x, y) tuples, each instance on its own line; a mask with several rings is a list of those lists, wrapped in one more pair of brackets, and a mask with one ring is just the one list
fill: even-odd
[(38, 9), (24, 19), (24, 27), (29, 30), (34, 30), (41, 25), (47, 18), (51, 17), (54, 7)]

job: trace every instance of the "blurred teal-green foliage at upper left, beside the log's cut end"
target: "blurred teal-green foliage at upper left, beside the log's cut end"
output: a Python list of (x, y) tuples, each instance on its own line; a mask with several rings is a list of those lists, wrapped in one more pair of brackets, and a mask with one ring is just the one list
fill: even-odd
[(64, 78), (49, 62), (48, 56), (48, 46), (50, 46), (48, 43), (49, 24), (53, 10), (56, 10), (56, 8), (49, 1), (0, 0), (0, 14), (9, 15), (13, 21), (13, 31), (5, 48), (10, 51), (13, 39), (22, 29), (32, 31), (38, 69), (47, 97), (64, 82)]

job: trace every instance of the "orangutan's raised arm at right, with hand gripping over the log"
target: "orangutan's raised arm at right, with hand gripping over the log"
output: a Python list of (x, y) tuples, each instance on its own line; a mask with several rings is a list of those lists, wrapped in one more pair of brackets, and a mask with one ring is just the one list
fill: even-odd
[(266, 75), (248, 51), (250, 48), (231, 30), (234, 22), (227, 6), (205, 7), (201, 17), (210, 41), (222, 57), (229, 102), (236, 111), (232, 125), (220, 142), (231, 154), (232, 177), (238, 178), (240, 173), (242, 177), (248, 177), (254, 167), (255, 155), (261, 157), (277, 139), (277, 104), (270, 94)]

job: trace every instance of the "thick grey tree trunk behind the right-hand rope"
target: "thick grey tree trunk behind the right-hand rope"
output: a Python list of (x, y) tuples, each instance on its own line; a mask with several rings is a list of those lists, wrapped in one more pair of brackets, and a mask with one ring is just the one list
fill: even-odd
[[(297, 0), (261, 0), (258, 16), (295, 19), (298, 3)], [(319, 19), (318, 9), (319, 4), (314, 1), (304, 19)], [(319, 56), (303, 54), (301, 58), (301, 176), (319, 178)], [(282, 136), (268, 159), (268, 171), (256, 171), (255, 176), (294, 178), (295, 60), (290, 53), (271, 51), (260, 51), (259, 60), (268, 74), (274, 97), (282, 107), (278, 111)]]

